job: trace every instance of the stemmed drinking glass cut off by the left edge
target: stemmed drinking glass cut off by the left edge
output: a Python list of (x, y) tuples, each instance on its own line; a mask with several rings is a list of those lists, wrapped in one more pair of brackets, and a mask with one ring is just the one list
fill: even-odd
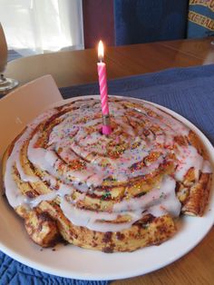
[(4, 75), (7, 64), (7, 44), (5, 33), (0, 23), (0, 94), (5, 94), (18, 85), (18, 81), (13, 78), (6, 78)]

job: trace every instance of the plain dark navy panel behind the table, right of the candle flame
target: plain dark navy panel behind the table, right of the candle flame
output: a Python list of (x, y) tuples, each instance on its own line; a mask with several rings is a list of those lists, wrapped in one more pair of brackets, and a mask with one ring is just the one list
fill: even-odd
[(189, 0), (114, 0), (115, 44), (186, 36)]

